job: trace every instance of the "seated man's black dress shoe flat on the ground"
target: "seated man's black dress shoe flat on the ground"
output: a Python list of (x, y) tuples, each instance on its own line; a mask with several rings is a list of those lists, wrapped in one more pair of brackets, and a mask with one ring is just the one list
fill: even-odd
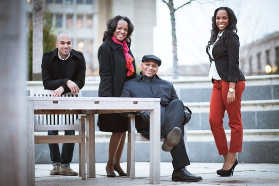
[(172, 172), (171, 180), (175, 182), (197, 182), (202, 180), (202, 178), (200, 176), (194, 176), (186, 168), (182, 168)]

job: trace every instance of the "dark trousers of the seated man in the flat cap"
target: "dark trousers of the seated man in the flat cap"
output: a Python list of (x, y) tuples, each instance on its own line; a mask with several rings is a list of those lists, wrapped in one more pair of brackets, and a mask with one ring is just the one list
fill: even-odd
[[(161, 105), (161, 137), (166, 137), (174, 127), (179, 127), (182, 132), (179, 144), (170, 151), (174, 170), (190, 165), (184, 143), (184, 117), (184, 105), (181, 100), (171, 101), (166, 106)], [(149, 125), (144, 123), (139, 116), (136, 117), (136, 128), (138, 132), (149, 139)]]

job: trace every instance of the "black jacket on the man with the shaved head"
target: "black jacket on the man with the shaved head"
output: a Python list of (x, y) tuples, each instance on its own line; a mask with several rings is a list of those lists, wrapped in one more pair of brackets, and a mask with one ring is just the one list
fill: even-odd
[(58, 49), (44, 53), (42, 59), (42, 80), (45, 89), (55, 90), (64, 87), (63, 94), (71, 90), (66, 85), (68, 80), (75, 82), (80, 89), (84, 86), (86, 64), (82, 52), (72, 50), (65, 75), (62, 73), (62, 64), (59, 63)]

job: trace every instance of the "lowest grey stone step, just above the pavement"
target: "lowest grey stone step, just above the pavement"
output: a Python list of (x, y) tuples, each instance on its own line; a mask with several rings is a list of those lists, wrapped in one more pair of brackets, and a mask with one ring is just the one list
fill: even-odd
[[(230, 140), (230, 131), (226, 130)], [(108, 159), (108, 146), (111, 133), (96, 132), (96, 161), (104, 163)], [(192, 162), (222, 162), (218, 155), (210, 130), (187, 131), (184, 137), (187, 153)], [(162, 143), (162, 142), (161, 142)], [(279, 129), (244, 130), (243, 150), (237, 153), (239, 162), (245, 163), (279, 163), (278, 156)], [(60, 144), (62, 149), (62, 144)], [(78, 144), (74, 150), (72, 163), (78, 163)], [(127, 161), (127, 144), (125, 144), (121, 161)], [(149, 143), (136, 142), (136, 161), (149, 161)], [(161, 161), (171, 162), (169, 152), (161, 151)], [(35, 163), (51, 163), (47, 144), (35, 144)]]

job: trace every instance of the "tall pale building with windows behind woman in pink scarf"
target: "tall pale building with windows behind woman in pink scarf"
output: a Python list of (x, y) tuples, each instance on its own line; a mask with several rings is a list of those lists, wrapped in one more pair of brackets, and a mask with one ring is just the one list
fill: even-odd
[[(26, 1), (29, 27), (33, 0)], [(153, 52), (156, 0), (43, 0), (43, 9), (51, 15), (53, 32), (70, 34), (73, 49), (84, 54), (87, 76), (98, 75), (98, 47), (102, 43), (107, 20), (117, 15), (129, 17), (135, 27), (131, 51), (136, 63), (140, 63), (144, 54)]]

